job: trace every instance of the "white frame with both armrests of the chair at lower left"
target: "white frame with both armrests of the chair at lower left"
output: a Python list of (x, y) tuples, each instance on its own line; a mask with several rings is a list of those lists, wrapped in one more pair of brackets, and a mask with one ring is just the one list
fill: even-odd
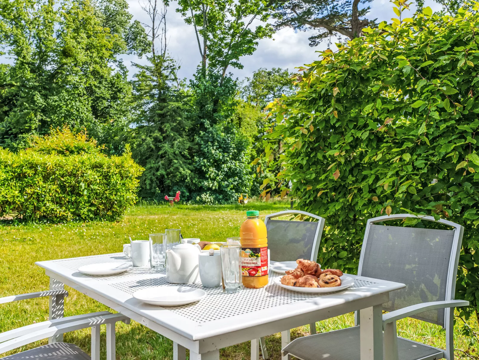
[[(31, 292), (28, 294), (12, 295), (0, 298), (0, 304), (13, 301), (50, 297), (56, 301), (68, 296), (64, 289)], [(58, 317), (41, 323), (22, 326), (0, 333), (0, 354), (30, 344), (34, 341), (49, 338), (49, 343), (61, 342), (58, 338), (69, 331), (91, 328), (91, 360), (100, 360), (100, 325), (106, 325), (106, 358), (116, 359), (115, 324), (122, 321), (130, 324), (130, 319), (120, 313), (93, 312), (90, 314)]]

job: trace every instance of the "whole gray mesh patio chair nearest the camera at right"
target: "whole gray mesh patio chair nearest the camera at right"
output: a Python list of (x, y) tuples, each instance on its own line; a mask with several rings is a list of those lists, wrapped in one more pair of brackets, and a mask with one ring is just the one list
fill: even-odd
[[(452, 229), (409, 228), (377, 223), (415, 217), (409, 214), (380, 216), (366, 224), (358, 275), (406, 284), (383, 304), (385, 360), (454, 359), (454, 308), (468, 301), (454, 300), (457, 263), (463, 227), (447, 220), (435, 221)], [(397, 336), (396, 321), (413, 317), (441, 325), (446, 332), (442, 350)], [(360, 338), (357, 312), (354, 327), (305, 336), (283, 348), (283, 355), (302, 360), (359, 360)], [(379, 349), (379, 353), (381, 353)], [(326, 356), (326, 354), (328, 354)]]

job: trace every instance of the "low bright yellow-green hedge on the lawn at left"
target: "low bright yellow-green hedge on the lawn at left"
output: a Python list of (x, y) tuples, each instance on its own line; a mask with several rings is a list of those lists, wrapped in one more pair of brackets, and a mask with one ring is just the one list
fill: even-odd
[[(0, 148), (0, 216), (50, 222), (114, 220), (135, 204), (143, 169), (131, 158), (129, 147), (123, 156), (106, 156), (84, 135), (54, 131), (18, 153)], [(79, 149), (82, 142), (87, 152), (64, 151)]]

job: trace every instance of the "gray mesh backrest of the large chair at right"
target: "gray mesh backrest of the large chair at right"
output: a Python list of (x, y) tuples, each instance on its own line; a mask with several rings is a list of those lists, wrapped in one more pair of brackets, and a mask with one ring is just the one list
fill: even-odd
[[(429, 301), (453, 300), (457, 264), (464, 228), (447, 220), (423, 220), (449, 229), (376, 225), (378, 222), (416, 217), (410, 214), (380, 216), (366, 224), (358, 275), (406, 284), (390, 293), (383, 310), (394, 311)], [(422, 312), (416, 319), (445, 326), (445, 310)]]

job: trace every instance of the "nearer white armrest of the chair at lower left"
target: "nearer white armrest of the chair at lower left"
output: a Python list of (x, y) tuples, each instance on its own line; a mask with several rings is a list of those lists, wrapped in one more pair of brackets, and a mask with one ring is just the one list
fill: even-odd
[(99, 326), (102, 324), (114, 324), (118, 321), (123, 321), (126, 324), (130, 323), (130, 319), (125, 315), (122, 315), (120, 313), (109, 313), (107, 315), (90, 316), (88, 318), (69, 322), (66, 324), (57, 324), (0, 343), (0, 354), (6, 351), (10, 351), (14, 348), (19, 348), (23, 345), (30, 344), (34, 341), (45, 339), (46, 337), (52, 337), (58, 334), (68, 333), (69, 331), (86, 329), (92, 326)]

